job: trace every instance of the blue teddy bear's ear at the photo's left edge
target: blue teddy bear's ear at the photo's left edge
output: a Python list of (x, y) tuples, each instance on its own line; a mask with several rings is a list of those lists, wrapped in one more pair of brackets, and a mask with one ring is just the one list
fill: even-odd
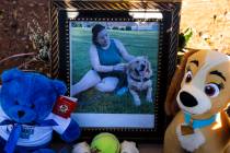
[(22, 71), (20, 71), (19, 69), (14, 68), (14, 69), (10, 69), (10, 70), (7, 70), (4, 71), (2, 74), (1, 74), (1, 80), (2, 80), (2, 83), (4, 82), (9, 82), (13, 79), (16, 79), (19, 76), (22, 75)]

